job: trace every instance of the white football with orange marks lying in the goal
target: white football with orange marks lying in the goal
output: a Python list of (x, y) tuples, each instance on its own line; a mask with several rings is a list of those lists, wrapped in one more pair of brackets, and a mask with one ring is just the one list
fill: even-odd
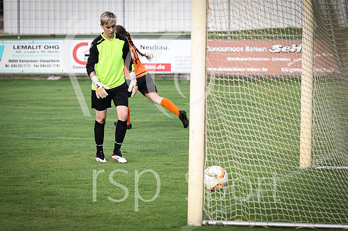
[(227, 186), (228, 175), (220, 166), (210, 166), (204, 171), (204, 186), (210, 191), (219, 191)]

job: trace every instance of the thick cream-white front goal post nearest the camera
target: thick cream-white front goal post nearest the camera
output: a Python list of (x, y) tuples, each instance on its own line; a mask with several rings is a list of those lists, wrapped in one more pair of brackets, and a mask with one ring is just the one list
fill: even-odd
[(202, 225), (206, 80), (206, 0), (192, 0), (188, 225)]

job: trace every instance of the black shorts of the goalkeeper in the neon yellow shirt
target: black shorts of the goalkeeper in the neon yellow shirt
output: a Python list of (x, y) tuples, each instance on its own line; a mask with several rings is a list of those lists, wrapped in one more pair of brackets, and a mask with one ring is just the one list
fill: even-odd
[(128, 87), (126, 82), (122, 85), (112, 88), (105, 89), (108, 96), (104, 99), (97, 98), (96, 91), (92, 90), (91, 100), (92, 108), (97, 111), (104, 111), (107, 108), (111, 108), (111, 100), (114, 101), (115, 106), (126, 106), (128, 107)]

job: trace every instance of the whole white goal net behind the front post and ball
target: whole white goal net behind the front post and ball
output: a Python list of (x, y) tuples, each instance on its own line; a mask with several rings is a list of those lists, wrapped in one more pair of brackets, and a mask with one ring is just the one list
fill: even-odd
[(209, 0), (206, 25), (204, 169), (229, 180), (203, 224), (347, 228), (347, 2)]

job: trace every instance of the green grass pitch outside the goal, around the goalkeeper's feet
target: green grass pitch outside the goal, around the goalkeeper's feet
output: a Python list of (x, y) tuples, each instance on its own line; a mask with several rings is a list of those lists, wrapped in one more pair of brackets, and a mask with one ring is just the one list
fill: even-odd
[[(78, 83), (90, 107), (91, 81)], [(173, 80), (155, 84), (160, 96), (189, 112), (189, 82), (179, 81), (186, 98)], [(0, 79), (0, 92), (1, 230), (293, 230), (187, 226), (189, 129), (140, 93), (129, 101), (133, 128), (122, 146), (128, 163), (118, 164), (110, 157), (115, 107), (105, 127), (108, 162), (99, 163), (95, 112), (83, 115), (69, 79)], [(148, 169), (158, 177), (146, 171), (139, 176)], [(158, 197), (138, 197), (136, 204), (137, 194), (144, 200), (155, 196), (158, 178)]]

